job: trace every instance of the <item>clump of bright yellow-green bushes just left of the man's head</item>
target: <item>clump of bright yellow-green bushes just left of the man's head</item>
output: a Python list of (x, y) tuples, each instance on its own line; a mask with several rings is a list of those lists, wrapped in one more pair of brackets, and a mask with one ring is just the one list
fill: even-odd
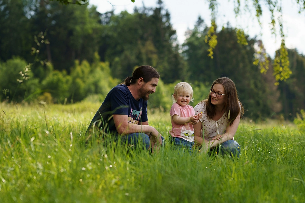
[(55, 70), (42, 81), (44, 91), (50, 91), (55, 103), (78, 102), (90, 95), (99, 95), (99, 100), (106, 97), (110, 89), (119, 82), (110, 75), (109, 64), (99, 61), (95, 54), (94, 63), (75, 61), (71, 74)]

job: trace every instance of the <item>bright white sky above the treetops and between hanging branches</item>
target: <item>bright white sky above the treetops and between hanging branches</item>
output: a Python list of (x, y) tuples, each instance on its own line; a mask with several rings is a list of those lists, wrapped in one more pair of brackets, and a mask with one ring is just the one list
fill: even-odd
[[(114, 10), (115, 14), (119, 14), (124, 10), (132, 13), (135, 6), (142, 7), (143, 4), (146, 7), (156, 7), (156, 2), (157, 0), (135, 0), (134, 3), (131, 0), (90, 0), (89, 4), (97, 6), (97, 11), (100, 13)], [(241, 15), (235, 17), (234, 0), (218, 0), (217, 2), (219, 3), (216, 15), (218, 28), (222, 25), (226, 26), (229, 22), (232, 27), (244, 29), (249, 37), (257, 36), (257, 39), (261, 39), (267, 53), (274, 58), (275, 51), (281, 45), (281, 37), (278, 26), (276, 26), (277, 36), (271, 33), (271, 15), (266, 6), (262, 5), (263, 16), (260, 19), (260, 26), (255, 12), (242, 10)], [(289, 49), (296, 48), (299, 54), (305, 55), (305, 11), (298, 13), (299, 6), (296, 0), (279, 2), (282, 2), (285, 45)], [(186, 39), (185, 31), (194, 28), (198, 16), (201, 16), (206, 25), (210, 26), (211, 11), (207, 0), (163, 0), (163, 7), (170, 13), (170, 23), (177, 32), (180, 44)], [(278, 16), (278, 12), (275, 12), (275, 16)]]

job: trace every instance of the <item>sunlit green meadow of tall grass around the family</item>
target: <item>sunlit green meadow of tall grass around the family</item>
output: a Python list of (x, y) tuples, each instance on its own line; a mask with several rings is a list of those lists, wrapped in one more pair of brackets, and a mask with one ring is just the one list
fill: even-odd
[(150, 155), (84, 147), (99, 106), (1, 103), (0, 202), (305, 202), (305, 138), (293, 123), (242, 119), (239, 159), (191, 156), (170, 149), (169, 113), (149, 110), (167, 144)]

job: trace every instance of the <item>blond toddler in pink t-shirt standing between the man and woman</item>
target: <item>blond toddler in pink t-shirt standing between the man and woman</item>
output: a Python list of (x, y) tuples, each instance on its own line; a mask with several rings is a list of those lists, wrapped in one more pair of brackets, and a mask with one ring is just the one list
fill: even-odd
[(195, 115), (194, 108), (189, 105), (193, 101), (193, 89), (187, 82), (179, 82), (172, 95), (173, 105), (170, 109), (172, 129), (170, 141), (177, 149), (186, 148), (191, 153), (194, 144), (194, 127), (202, 118), (202, 113)]

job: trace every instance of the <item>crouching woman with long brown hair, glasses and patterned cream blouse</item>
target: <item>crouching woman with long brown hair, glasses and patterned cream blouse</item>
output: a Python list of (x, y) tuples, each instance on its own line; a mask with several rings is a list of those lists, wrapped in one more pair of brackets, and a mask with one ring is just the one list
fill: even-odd
[(195, 143), (202, 145), (201, 151), (210, 150), (239, 157), (240, 147), (233, 137), (244, 109), (234, 82), (227, 77), (215, 80), (209, 98), (198, 103), (194, 110), (195, 114), (203, 113), (202, 118), (194, 125)]

